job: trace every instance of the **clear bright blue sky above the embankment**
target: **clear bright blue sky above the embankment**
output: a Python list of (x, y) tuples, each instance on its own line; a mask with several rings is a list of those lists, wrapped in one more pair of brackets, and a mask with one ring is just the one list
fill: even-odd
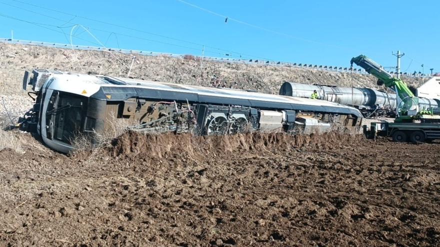
[[(107, 47), (201, 55), (204, 44), (206, 56), (344, 67), (359, 54), (395, 66), (400, 49), (402, 71), (440, 71), (440, 1), (184, 1), (214, 13), (179, 0), (0, 0), (0, 37), (67, 43), (59, 26), (81, 24)], [(96, 45), (76, 29), (74, 44)]]

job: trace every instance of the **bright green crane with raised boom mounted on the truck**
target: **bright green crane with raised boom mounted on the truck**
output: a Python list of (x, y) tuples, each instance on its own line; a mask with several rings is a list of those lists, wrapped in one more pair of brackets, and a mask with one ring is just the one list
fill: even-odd
[(393, 77), (390, 73), (385, 71), (381, 65), (374, 62), (365, 55), (359, 55), (351, 58), (351, 68), (353, 63), (365, 69), (366, 72), (374, 75), (377, 78), (377, 85), (385, 85), (391, 90), (395, 91), (400, 99), (397, 100), (396, 119), (394, 122), (413, 122), (414, 120), (431, 121), (433, 118), (432, 112), (428, 110), (418, 109), (418, 98), (409, 90), (405, 82), (399, 78)]

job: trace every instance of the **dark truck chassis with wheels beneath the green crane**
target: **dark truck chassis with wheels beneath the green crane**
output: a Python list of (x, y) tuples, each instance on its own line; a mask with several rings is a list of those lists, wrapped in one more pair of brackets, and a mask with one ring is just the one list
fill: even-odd
[(440, 139), (440, 123), (374, 122), (369, 129), (364, 125), (363, 131), (367, 138), (391, 137), (394, 142), (419, 143)]

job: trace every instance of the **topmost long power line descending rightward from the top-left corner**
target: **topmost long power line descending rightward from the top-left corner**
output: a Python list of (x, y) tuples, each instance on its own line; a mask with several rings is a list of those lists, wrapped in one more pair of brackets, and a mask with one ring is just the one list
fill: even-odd
[[(70, 16), (74, 16), (74, 17), (77, 17), (77, 18), (82, 18), (82, 19), (86, 19), (86, 20), (91, 20), (91, 21), (103, 23), (103, 24), (106, 24), (106, 25), (116, 26), (116, 27), (120, 27), (120, 28), (124, 28), (124, 29), (128, 29), (128, 30), (142, 32), (142, 33), (146, 33), (146, 34), (150, 34), (150, 35), (154, 35), (154, 36), (159, 36), (159, 37), (163, 37), (163, 38), (168, 38), (168, 39), (172, 39), (172, 40), (176, 40), (176, 41), (180, 41), (180, 42), (185, 42), (185, 43), (190, 43), (190, 44), (194, 44), (194, 45), (199, 45), (200, 49), (197, 49), (197, 50), (201, 50), (201, 47), (205, 46), (207, 48), (228, 52), (229, 54), (230, 53), (235, 53), (237, 55), (245, 55), (245, 56), (248, 56), (248, 57), (260, 58), (260, 59), (264, 59), (264, 60), (274, 61), (273, 59), (269, 59), (269, 58), (265, 58), (265, 57), (250, 55), (250, 54), (246, 54), (246, 53), (242, 53), (242, 52), (237, 52), (237, 51), (231, 51), (231, 50), (222, 49), (222, 48), (218, 48), (218, 47), (214, 47), (214, 46), (204, 45), (204, 44), (201, 44), (201, 43), (196, 43), (196, 42), (193, 42), (193, 41), (188, 41), (188, 40), (174, 38), (174, 37), (170, 37), (170, 36), (166, 36), (166, 35), (162, 35), (162, 34), (148, 32), (148, 31), (144, 31), (144, 30), (140, 30), (140, 29), (136, 29), (136, 28), (132, 28), (132, 27), (128, 27), (128, 26), (123, 26), (123, 25), (119, 25), (119, 24), (110, 23), (110, 22), (107, 22), (107, 21), (97, 20), (97, 19), (93, 19), (93, 18), (89, 18), (89, 17), (85, 17), (85, 16), (80, 16), (80, 15), (64, 12), (64, 11), (53, 9), (53, 8), (43, 7), (43, 6), (39, 6), (39, 5), (36, 5), (36, 4), (20, 1), (20, 0), (12, 0), (12, 1), (19, 2), (19, 3), (22, 3), (22, 4), (26, 4), (26, 5), (30, 5), (30, 6), (34, 6), (34, 7), (38, 7), (38, 8), (42, 8), (42, 9), (45, 9), (45, 10), (50, 10), (50, 11), (54, 11), (54, 12), (58, 12), (58, 13), (62, 13), (62, 14), (70, 15)], [(17, 6), (15, 6), (15, 7), (17, 7)], [(18, 8), (20, 8), (20, 7), (18, 7)], [(24, 8), (22, 8), (22, 9), (24, 9)], [(60, 20), (60, 19), (58, 19), (58, 20)], [(65, 21), (65, 20), (62, 20), (62, 21)], [(211, 53), (215, 53), (215, 52), (211, 52)], [(221, 54), (221, 53), (218, 53), (218, 54)]]

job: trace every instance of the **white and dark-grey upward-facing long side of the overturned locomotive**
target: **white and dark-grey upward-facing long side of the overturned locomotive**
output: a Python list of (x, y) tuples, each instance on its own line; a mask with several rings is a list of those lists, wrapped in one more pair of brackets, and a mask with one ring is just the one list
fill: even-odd
[[(56, 83), (58, 87), (61, 84), (69, 84), (68, 86), (66, 85), (67, 91), (69, 91), (67, 88), (73, 90), (73, 85), (76, 85), (75, 87), (82, 85), (84, 90), (86, 88), (93, 88), (91, 90), (92, 94), (87, 93), (88, 95), (86, 96), (107, 101), (120, 101), (132, 97), (140, 97), (168, 101), (187, 100), (188, 102), (203, 104), (241, 105), (260, 109), (351, 114), (361, 117), (360, 112), (355, 108), (318, 99), (75, 72), (52, 74), (53, 77), (58, 82)], [(65, 83), (66, 81), (69, 83)], [(80, 94), (77, 90), (75, 89), (73, 93)]]

